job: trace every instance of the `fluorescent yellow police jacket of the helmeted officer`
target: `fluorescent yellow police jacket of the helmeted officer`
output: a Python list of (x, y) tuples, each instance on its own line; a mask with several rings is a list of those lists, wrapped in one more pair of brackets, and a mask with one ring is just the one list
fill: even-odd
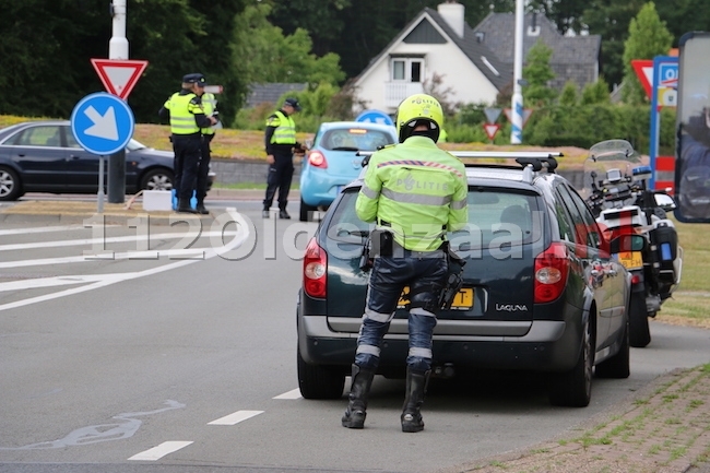
[(463, 163), (415, 135), (372, 154), (355, 210), (365, 222), (387, 222), (402, 247), (433, 251), (468, 223), (468, 193)]

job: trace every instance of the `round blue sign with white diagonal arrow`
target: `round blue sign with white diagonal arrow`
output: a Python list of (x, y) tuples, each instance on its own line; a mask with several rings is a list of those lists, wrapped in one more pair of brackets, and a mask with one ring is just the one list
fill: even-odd
[(99, 155), (125, 149), (135, 128), (133, 110), (128, 104), (105, 92), (79, 100), (70, 120), (71, 132), (81, 147)]

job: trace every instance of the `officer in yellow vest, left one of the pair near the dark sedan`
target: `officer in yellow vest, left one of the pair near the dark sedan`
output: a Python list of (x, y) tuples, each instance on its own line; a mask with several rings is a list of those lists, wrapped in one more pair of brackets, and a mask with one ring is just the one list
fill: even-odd
[(190, 205), (192, 191), (198, 181), (198, 166), (202, 145), (201, 128), (216, 125), (214, 117), (208, 117), (200, 96), (204, 93), (206, 80), (200, 73), (182, 78), (182, 90), (168, 98), (158, 115), (170, 118), (170, 141), (175, 152), (174, 188), (178, 197), (178, 212), (197, 213)]

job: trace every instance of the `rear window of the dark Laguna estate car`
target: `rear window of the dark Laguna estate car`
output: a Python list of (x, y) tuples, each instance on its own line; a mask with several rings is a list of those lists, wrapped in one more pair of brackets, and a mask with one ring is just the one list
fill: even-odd
[[(360, 243), (374, 227), (355, 213), (357, 188), (346, 189), (328, 228), (331, 239)], [(500, 248), (537, 241), (542, 237), (540, 196), (511, 189), (469, 190), (469, 224), (449, 235), (454, 249)]]

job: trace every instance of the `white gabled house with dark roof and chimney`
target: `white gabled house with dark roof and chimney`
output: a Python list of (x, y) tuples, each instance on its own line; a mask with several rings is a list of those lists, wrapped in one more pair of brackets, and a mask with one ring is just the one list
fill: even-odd
[(512, 80), (512, 64), (501, 62), (464, 21), (464, 7), (446, 2), (425, 8), (355, 79), (357, 97), (394, 114), (407, 96), (422, 93), (424, 82), (442, 78), (453, 103), (493, 104)]

